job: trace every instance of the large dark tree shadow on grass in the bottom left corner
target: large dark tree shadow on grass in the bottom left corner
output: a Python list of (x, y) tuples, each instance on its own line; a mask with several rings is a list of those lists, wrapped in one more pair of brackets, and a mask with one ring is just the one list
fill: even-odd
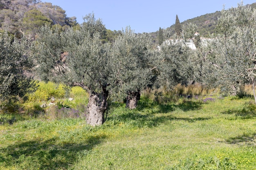
[(101, 143), (105, 136), (90, 136), (85, 144), (56, 144), (56, 138), (46, 141), (25, 141), (0, 148), (0, 164), (7, 167), (16, 165), (18, 169), (67, 169), (79, 157), (85, 156), (94, 146)]

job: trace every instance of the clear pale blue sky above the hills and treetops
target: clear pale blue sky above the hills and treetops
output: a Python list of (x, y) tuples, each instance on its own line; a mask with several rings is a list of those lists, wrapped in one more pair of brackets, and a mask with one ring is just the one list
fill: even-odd
[[(122, 30), (130, 26), (135, 33), (155, 32), (175, 24), (176, 14), (180, 22), (206, 13), (237, 7), (240, 0), (42, 0), (58, 5), (68, 17), (75, 16), (83, 22), (83, 16), (94, 12), (106, 29)], [(243, 0), (252, 4), (256, 0)]]

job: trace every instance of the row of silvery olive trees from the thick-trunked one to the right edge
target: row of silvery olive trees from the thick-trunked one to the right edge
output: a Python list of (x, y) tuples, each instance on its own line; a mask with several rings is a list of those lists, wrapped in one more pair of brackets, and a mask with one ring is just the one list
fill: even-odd
[[(196, 37), (196, 51), (184, 42), (165, 41), (155, 48), (147, 34), (135, 34), (130, 27), (107, 42), (100, 19), (92, 13), (84, 20), (79, 29), (61, 33), (41, 27), (35, 55), (42, 80), (81, 86), (90, 94), (86, 119), (92, 126), (106, 120), (109, 98), (126, 98), (126, 106), (136, 108), (147, 87), (171, 90), (197, 80), (236, 94), (250, 83), (254, 91), (256, 12), (243, 4), (223, 9), (218, 34), (207, 43)], [(193, 37), (195, 29), (185, 27), (185, 38)]]

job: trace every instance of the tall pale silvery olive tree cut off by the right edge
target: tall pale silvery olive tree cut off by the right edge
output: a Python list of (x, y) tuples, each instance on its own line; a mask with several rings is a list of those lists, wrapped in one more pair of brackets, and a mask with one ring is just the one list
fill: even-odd
[[(243, 2), (237, 8), (223, 9), (218, 20), (218, 37), (210, 44), (214, 57), (207, 60), (219, 86), (237, 94), (244, 84), (252, 84), (256, 71), (256, 12)], [(255, 100), (256, 96), (254, 95)]]

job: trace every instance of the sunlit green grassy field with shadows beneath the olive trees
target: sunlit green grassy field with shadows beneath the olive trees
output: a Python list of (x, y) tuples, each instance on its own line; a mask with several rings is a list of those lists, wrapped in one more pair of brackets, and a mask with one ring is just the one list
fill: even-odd
[(142, 95), (135, 110), (111, 104), (99, 127), (71, 108), (50, 110), (62, 109), (58, 116), (3, 112), (0, 169), (256, 170), (252, 102), (208, 96), (157, 104)]

